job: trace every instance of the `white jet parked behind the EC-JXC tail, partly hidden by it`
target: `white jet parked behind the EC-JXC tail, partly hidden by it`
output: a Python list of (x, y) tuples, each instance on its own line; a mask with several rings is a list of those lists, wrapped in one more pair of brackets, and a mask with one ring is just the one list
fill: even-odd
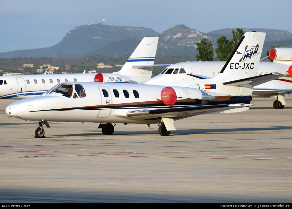
[[(242, 59), (254, 56), (257, 50), (251, 50), (246, 54), (241, 54)], [(241, 53), (241, 52), (240, 52)], [(270, 50), (270, 58), (273, 62), (260, 62), (258, 75), (269, 74), (278, 71), (286, 74), (285, 77), (260, 84), (253, 88), (252, 96), (268, 97), (276, 96), (273, 103), (275, 109), (283, 109), (286, 105), (283, 94), (292, 93), (292, 48), (273, 48)], [(228, 61), (227, 61), (228, 62)], [(172, 85), (170, 82), (197, 80), (194, 75), (203, 75), (206, 78), (215, 77), (220, 73), (226, 62), (183, 62), (166, 67), (159, 75), (154, 76), (145, 84)], [(233, 66), (235, 69), (237, 65)], [(193, 75), (193, 76), (190, 76)]]

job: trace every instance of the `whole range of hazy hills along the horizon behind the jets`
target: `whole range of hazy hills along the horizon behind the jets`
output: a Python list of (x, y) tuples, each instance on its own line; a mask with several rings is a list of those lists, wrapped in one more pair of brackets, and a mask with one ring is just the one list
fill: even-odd
[[(234, 29), (235, 30), (235, 29)], [(281, 47), (289, 47), (292, 34), (286, 30), (244, 28), (244, 31), (255, 30), (266, 32), (265, 46), (271, 43)], [(140, 43), (143, 37), (158, 36), (157, 56), (194, 56), (197, 53), (196, 43), (202, 38), (209, 39), (216, 48), (218, 36), (232, 38), (232, 29), (214, 30), (203, 33), (180, 24), (160, 34), (150, 28), (108, 25), (92, 23), (81, 25), (70, 30), (58, 44), (41, 49), (27, 49), (0, 53), (1, 58), (13, 57), (49, 57), (53, 58), (84, 58), (92, 56), (128, 57)], [(98, 55), (98, 56), (96, 56)]]

